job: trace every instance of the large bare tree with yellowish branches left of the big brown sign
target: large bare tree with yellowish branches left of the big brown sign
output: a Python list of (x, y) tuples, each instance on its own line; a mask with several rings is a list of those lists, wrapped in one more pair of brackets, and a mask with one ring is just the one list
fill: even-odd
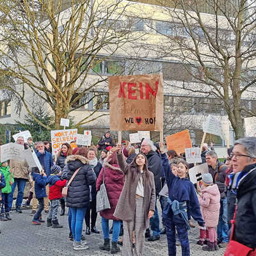
[[(3, 3), (2, 3), (3, 2)], [(93, 99), (97, 104), (106, 89), (106, 75), (102, 76), (102, 62), (108, 60), (128, 42), (132, 19), (125, 19), (127, 2), (123, 0), (8, 0), (0, 6), (0, 76), (12, 77), (13, 86), (5, 86), (15, 93), (29, 115), (36, 119), (29, 104), (29, 93), (45, 100), (54, 113), (55, 127), (60, 118), (81, 108)], [(68, 8), (63, 10), (63, 3)], [(65, 7), (65, 6), (64, 6)], [(102, 54), (103, 52), (103, 54)], [(101, 54), (101, 55), (100, 55)], [(100, 55), (100, 57), (99, 57)], [(108, 67), (111, 74), (122, 74), (119, 65)], [(90, 76), (91, 74), (99, 76)], [(106, 74), (106, 72), (104, 72)], [(86, 93), (93, 97), (86, 98)], [(94, 100), (95, 101), (95, 100)], [(89, 115), (76, 126), (106, 115)]]

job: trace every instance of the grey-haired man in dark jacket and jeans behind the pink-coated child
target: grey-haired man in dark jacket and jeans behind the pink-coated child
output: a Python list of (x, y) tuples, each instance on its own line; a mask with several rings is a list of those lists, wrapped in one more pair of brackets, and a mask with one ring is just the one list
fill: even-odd
[(214, 184), (218, 185), (220, 191), (220, 216), (217, 227), (218, 244), (221, 248), (225, 248), (228, 244), (228, 206), (226, 196), (226, 171), (228, 166), (221, 163), (215, 151), (210, 150), (205, 155), (206, 163), (208, 164), (209, 173), (212, 175)]

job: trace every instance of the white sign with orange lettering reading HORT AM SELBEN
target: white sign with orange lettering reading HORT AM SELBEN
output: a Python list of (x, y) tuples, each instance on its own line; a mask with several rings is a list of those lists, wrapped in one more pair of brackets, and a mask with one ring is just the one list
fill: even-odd
[(56, 155), (63, 143), (75, 141), (76, 135), (77, 129), (51, 131), (52, 154)]

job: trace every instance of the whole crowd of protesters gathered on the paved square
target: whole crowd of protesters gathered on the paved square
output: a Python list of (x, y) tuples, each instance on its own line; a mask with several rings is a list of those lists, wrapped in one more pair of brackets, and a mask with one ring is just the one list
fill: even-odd
[[(150, 138), (115, 144), (109, 131), (97, 147), (62, 143), (55, 155), (50, 141), (26, 141), (19, 136), (15, 143), (35, 152), (40, 164), (31, 167), (26, 158), (1, 163), (1, 221), (11, 221), (13, 212), (22, 213), (20, 207), (32, 205), (31, 225), (45, 223), (52, 228), (63, 227), (58, 216), (68, 210), (67, 239), (73, 241), (74, 250), (88, 249), (86, 236), (93, 232), (102, 236), (100, 250), (114, 254), (122, 247), (122, 255), (143, 255), (145, 237), (154, 243), (164, 235), (168, 255), (176, 255), (176, 246), (181, 246), (182, 256), (188, 256), (188, 230), (198, 228), (197, 244), (205, 252), (221, 247), (226, 248), (225, 255), (256, 255), (254, 137), (239, 139), (228, 148), (225, 163), (204, 143), (198, 164), (187, 163), (188, 155), (166, 150), (164, 143)], [(208, 171), (193, 182), (191, 170), (202, 164)], [(24, 202), (28, 182), (31, 190)], [(232, 254), (237, 250), (241, 254)]]

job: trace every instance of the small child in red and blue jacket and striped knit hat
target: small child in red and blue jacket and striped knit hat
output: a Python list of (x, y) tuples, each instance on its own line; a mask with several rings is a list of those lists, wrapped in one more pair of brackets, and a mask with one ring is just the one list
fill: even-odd
[(67, 180), (61, 180), (61, 167), (54, 164), (51, 167), (51, 175), (47, 177), (49, 183), (49, 200), (50, 211), (47, 218), (47, 227), (62, 228), (63, 226), (58, 222), (58, 208), (60, 206), (60, 198), (62, 198), (61, 191), (65, 187)]

